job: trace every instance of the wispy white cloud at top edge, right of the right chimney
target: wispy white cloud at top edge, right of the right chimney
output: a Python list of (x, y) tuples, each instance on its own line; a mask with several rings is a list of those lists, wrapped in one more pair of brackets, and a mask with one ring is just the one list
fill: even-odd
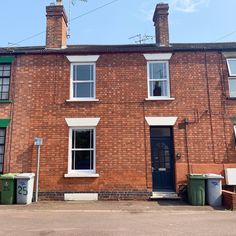
[(199, 7), (207, 7), (210, 0), (170, 0), (171, 7), (186, 13), (196, 12)]

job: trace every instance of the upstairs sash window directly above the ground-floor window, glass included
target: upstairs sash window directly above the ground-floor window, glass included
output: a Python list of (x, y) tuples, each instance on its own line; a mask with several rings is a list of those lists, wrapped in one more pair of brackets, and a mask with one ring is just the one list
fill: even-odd
[(95, 98), (95, 64), (72, 64), (72, 98)]

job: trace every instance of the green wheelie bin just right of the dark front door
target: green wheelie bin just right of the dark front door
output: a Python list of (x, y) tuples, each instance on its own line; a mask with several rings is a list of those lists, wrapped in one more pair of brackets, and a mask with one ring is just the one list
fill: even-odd
[(188, 175), (188, 200), (191, 205), (205, 205), (205, 176), (202, 174)]

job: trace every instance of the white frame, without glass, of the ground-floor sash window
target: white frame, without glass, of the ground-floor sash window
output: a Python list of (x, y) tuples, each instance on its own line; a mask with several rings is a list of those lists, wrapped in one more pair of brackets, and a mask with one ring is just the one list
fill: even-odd
[[(73, 170), (72, 169), (72, 132), (73, 130), (93, 130), (93, 169)], [(87, 148), (86, 148), (87, 149)], [(83, 150), (83, 148), (81, 148)], [(69, 148), (68, 148), (68, 174), (96, 174), (96, 127), (91, 126), (72, 126), (69, 127)]]

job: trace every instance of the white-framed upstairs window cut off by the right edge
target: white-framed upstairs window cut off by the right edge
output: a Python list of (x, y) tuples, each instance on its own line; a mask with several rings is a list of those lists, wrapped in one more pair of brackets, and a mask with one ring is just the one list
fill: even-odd
[(229, 72), (229, 96), (236, 97), (236, 58), (227, 59), (227, 65)]

